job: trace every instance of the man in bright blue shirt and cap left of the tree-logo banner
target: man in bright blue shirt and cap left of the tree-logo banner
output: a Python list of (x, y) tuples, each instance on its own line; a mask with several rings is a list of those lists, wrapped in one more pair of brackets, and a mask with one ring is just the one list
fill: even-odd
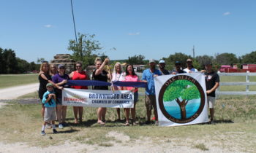
[(154, 87), (154, 77), (160, 76), (162, 73), (156, 69), (156, 62), (154, 59), (149, 60), (150, 68), (143, 71), (142, 80), (147, 82), (146, 94), (145, 94), (145, 104), (147, 110), (147, 121), (149, 124), (151, 122), (151, 111), (154, 108), (154, 116), (156, 118), (155, 124), (158, 124), (158, 116), (157, 116), (157, 102), (156, 102), (156, 94)]

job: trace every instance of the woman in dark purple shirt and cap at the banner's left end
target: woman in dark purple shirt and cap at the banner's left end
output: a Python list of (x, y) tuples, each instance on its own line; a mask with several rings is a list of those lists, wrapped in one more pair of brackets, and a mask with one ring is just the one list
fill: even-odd
[[(53, 82), (56, 85), (59, 85), (61, 87), (69, 87), (66, 85), (67, 80), (69, 79), (69, 76), (65, 74), (65, 66), (62, 64), (59, 64), (58, 66), (58, 74), (55, 74), (53, 76)], [(56, 97), (57, 97), (57, 119), (59, 122), (59, 128), (63, 128), (63, 125), (65, 124), (66, 114), (67, 114), (67, 106), (62, 106), (62, 92), (59, 89), (55, 90)]]

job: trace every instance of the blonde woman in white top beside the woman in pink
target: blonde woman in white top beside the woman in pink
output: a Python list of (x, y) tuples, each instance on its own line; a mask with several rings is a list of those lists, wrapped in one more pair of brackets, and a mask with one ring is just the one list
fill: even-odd
[[(116, 62), (115, 66), (114, 66), (114, 70), (112, 73), (112, 82), (117, 82), (117, 81), (124, 81), (124, 76), (125, 73), (122, 72), (122, 68), (121, 68), (121, 63)], [(113, 86), (113, 90), (123, 90), (123, 87), (119, 87), (119, 86)], [(117, 108), (117, 115), (118, 115), (118, 121), (121, 120), (120, 117), (120, 109)]]

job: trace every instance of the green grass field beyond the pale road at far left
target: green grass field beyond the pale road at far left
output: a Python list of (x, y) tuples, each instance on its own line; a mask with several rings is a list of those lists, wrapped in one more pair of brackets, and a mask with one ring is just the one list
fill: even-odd
[(0, 75), (0, 80), (0, 88), (13, 87), (17, 85), (27, 85), (39, 82), (38, 74)]

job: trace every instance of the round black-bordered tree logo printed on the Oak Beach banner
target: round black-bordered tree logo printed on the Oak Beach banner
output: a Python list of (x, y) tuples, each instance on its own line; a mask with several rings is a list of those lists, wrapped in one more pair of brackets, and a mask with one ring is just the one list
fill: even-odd
[(159, 92), (159, 107), (167, 119), (187, 123), (199, 117), (205, 106), (203, 87), (191, 76), (168, 79)]

